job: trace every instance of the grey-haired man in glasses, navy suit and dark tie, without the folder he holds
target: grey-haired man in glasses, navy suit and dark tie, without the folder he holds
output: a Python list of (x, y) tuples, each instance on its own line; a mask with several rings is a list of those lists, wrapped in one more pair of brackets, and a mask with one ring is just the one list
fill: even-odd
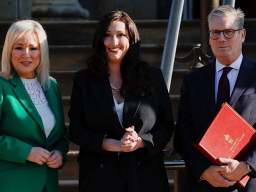
[[(186, 164), (182, 191), (255, 191), (256, 150), (242, 161), (220, 158), (224, 165), (217, 166), (193, 146), (224, 101), (256, 125), (256, 64), (241, 51), (246, 34), (243, 22), (239, 8), (213, 9), (208, 15), (209, 44), (216, 59), (183, 77), (173, 142)], [(251, 178), (238, 188), (236, 180), (246, 174)]]

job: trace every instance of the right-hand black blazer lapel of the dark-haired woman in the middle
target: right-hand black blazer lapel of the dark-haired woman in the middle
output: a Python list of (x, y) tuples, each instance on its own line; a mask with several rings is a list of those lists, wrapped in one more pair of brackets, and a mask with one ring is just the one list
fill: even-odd
[(141, 100), (142, 96), (133, 94), (127, 88), (122, 112), (122, 124), (125, 128), (132, 125), (132, 121), (137, 113)]

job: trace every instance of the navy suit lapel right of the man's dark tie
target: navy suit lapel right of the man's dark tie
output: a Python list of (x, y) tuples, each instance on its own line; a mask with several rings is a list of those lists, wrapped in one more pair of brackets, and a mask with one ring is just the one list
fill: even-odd
[(252, 69), (254, 69), (254, 65), (246, 57), (243, 56), (239, 73), (235, 81), (234, 89), (229, 100), (230, 106), (234, 107), (235, 102), (255, 75), (255, 71)]

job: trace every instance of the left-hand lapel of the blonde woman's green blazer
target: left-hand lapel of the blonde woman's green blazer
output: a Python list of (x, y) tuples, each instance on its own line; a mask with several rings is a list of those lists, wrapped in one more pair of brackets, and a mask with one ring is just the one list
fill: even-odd
[(37, 122), (37, 124), (44, 132), (41, 117), (37, 112), (32, 100), (30, 99), (22, 81), (16, 73), (13, 75), (13, 78), (10, 79), (10, 83), (15, 86), (12, 90), (15, 93), (20, 104), (25, 108), (27, 113)]

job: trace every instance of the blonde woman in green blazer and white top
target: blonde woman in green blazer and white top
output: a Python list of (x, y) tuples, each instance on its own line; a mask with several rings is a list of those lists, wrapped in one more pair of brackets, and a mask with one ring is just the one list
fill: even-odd
[(34, 20), (14, 22), (0, 71), (0, 191), (58, 190), (68, 133), (58, 84), (49, 77), (46, 33)]

